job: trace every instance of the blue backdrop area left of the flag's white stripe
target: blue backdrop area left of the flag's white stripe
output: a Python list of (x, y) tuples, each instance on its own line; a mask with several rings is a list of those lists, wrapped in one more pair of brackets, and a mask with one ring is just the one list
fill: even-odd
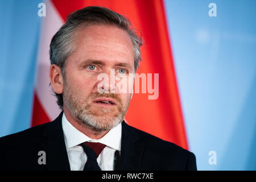
[(40, 2), (0, 0), (0, 137), (30, 127)]

